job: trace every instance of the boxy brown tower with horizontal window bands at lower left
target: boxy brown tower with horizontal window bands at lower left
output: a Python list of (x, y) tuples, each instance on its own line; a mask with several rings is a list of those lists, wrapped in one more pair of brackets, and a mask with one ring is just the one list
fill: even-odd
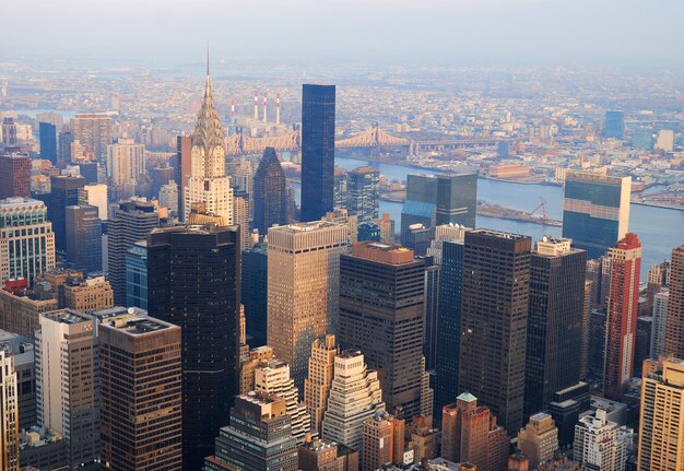
[(97, 332), (105, 469), (180, 471), (180, 329), (116, 308)]

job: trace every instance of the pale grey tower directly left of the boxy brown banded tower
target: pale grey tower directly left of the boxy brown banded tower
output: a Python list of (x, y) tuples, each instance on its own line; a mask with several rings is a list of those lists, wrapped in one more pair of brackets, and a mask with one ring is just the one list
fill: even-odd
[(70, 309), (40, 316), (36, 332), (38, 426), (69, 443), (72, 469), (99, 459), (95, 320)]

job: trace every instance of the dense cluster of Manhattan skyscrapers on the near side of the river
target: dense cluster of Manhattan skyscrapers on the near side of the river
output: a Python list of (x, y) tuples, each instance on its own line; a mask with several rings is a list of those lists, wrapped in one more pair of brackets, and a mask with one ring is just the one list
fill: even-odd
[(72, 121), (47, 191), (0, 156), (3, 470), (684, 462), (684, 246), (640, 286), (629, 177), (568, 172), (533, 244), (475, 228), (476, 174), (411, 175), (396, 244), (377, 170), (335, 175), (333, 85), (303, 89), (300, 208), (274, 149), (226, 158), (209, 70), (172, 166)]

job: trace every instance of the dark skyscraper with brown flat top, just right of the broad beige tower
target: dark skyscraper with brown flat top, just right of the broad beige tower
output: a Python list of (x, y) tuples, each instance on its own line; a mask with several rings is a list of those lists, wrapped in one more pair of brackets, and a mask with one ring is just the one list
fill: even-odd
[(378, 372), (388, 409), (421, 413), (425, 261), (379, 243), (340, 257), (340, 344)]

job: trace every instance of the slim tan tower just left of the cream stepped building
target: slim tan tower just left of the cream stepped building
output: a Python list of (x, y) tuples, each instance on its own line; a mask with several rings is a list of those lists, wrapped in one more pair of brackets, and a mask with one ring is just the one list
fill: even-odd
[(334, 373), (334, 357), (339, 353), (340, 346), (331, 333), (311, 343), (309, 373), (304, 380), (304, 403), (311, 417), (311, 428), (319, 434), (323, 413), (328, 407), (328, 396)]

